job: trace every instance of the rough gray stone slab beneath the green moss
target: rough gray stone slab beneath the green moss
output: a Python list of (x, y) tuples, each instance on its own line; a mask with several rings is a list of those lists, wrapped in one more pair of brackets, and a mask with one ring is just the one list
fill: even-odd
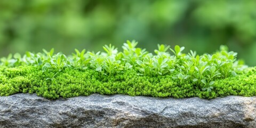
[(256, 127), (256, 97), (0, 97), (0, 127)]

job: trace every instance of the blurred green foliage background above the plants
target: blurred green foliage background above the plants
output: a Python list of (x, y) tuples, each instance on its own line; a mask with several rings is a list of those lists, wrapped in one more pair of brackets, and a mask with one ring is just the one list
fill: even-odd
[(103, 51), (135, 39), (153, 52), (157, 44), (212, 53), (221, 44), (256, 65), (256, 1), (1, 0), (0, 55), (54, 47)]

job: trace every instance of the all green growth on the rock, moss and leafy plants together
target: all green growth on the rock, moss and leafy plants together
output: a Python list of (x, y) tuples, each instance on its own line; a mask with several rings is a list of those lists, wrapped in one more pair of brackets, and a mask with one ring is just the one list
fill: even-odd
[[(73, 55), (26, 52), (1, 59), (0, 95), (37, 93), (47, 99), (79, 95), (128, 94), (150, 97), (200, 97), (256, 95), (256, 68), (236, 60), (226, 46), (214, 54), (197, 55), (185, 47), (158, 45), (155, 54), (127, 41), (118, 52), (105, 45), (105, 52)], [(170, 52), (170, 53), (169, 53)]]

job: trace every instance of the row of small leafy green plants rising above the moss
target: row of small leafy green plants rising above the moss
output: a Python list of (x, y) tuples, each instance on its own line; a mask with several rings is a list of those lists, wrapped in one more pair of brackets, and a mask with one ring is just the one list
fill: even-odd
[[(23, 57), (19, 53), (15, 53), (14, 55), (10, 54), (7, 58), (1, 58), (0, 65), (7, 68), (35, 67), (45, 75), (44, 81), (51, 81), (52, 86), (57, 85), (60, 81), (59, 77), (56, 78), (57, 74), (59, 76), (65, 73), (66, 70), (79, 70), (83, 71), (82, 73), (90, 74), (91, 76), (88, 79), (94, 77), (105, 78), (104, 81), (114, 81), (113, 78), (116, 78), (116, 76), (121, 80), (127, 77), (134, 81), (134, 77), (147, 77), (151, 79), (151, 82), (156, 82), (158, 78), (164, 78), (163, 81), (166, 82), (168, 78), (168, 81), (180, 85), (187, 83), (199, 87), (205, 93), (217, 90), (215, 89), (218, 86), (217, 81), (236, 77), (239, 71), (246, 69), (241, 61), (236, 60), (237, 53), (228, 51), (226, 46), (221, 46), (220, 50), (213, 54), (198, 55), (191, 50), (188, 54), (182, 53), (185, 47), (178, 45), (174, 46), (173, 50), (169, 45), (158, 44), (154, 51), (155, 54), (153, 54), (146, 51), (146, 49), (136, 47), (137, 44), (136, 41), (127, 41), (122, 46), (122, 52), (118, 52), (117, 48), (110, 44), (103, 46), (105, 52), (86, 52), (85, 49), (80, 52), (75, 49), (75, 53), (67, 56), (62, 53), (54, 54), (54, 49), (49, 52), (43, 49), (43, 53), (26, 52)], [(41, 72), (39, 71), (39, 73)], [(9, 76), (12, 75), (9, 74)], [(131, 86), (133, 82), (127, 84), (129, 83), (129, 86)], [(148, 82), (147, 85), (143, 84), (141, 86), (147, 88), (153, 85)], [(131, 91), (128, 92), (133, 94)]]

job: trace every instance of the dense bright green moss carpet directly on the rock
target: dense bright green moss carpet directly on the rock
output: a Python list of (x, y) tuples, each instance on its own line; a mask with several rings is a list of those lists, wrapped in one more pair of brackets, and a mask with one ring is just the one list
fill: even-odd
[(140, 76), (135, 70), (109, 76), (92, 69), (66, 68), (55, 75), (54, 72), (45, 74), (34, 66), (0, 67), (0, 94), (3, 96), (15, 93), (37, 93), (47, 99), (86, 96), (92, 93), (205, 99), (227, 95), (251, 97), (256, 95), (255, 69), (255, 67), (246, 68), (238, 72), (235, 77), (217, 79), (212, 85), (212, 91), (209, 92), (202, 91), (203, 84), (180, 81), (173, 79), (170, 75)]

